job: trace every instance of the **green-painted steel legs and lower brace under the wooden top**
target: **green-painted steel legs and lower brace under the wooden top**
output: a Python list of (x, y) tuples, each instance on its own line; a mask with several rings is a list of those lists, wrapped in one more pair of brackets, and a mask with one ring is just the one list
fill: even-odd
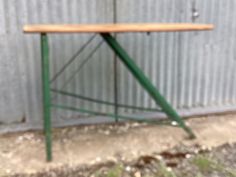
[[(119, 45), (114, 37), (109, 33), (101, 33), (102, 38), (110, 46), (110, 48), (115, 52), (115, 54), (122, 60), (125, 66), (133, 74), (133, 76), (138, 80), (138, 82), (143, 86), (143, 88), (149, 93), (149, 95), (155, 100), (156, 104), (159, 105), (163, 112), (167, 116), (176, 121), (180, 127), (182, 127), (190, 136), (190, 138), (195, 138), (192, 130), (186, 126), (184, 121), (178, 115), (178, 113), (171, 107), (171, 105), (165, 100), (165, 98), (159, 93), (151, 81), (145, 76), (143, 71), (135, 64), (132, 58), (126, 53), (126, 51)], [(49, 44), (47, 34), (41, 33), (41, 57), (42, 57), (42, 90), (43, 90), (43, 117), (44, 117), (44, 133), (45, 133), (45, 146), (46, 146), (46, 159), (47, 161), (52, 161), (52, 141), (51, 141), (51, 107), (60, 109), (70, 109), (74, 111), (89, 112), (95, 114), (95, 112), (71, 108), (62, 105), (51, 104), (50, 96), (50, 76), (49, 76)], [(99, 113), (96, 113), (99, 114)], [(102, 113), (100, 113), (101, 115)], [(116, 119), (130, 119), (142, 121), (140, 119), (134, 119), (131, 117), (119, 116), (114, 114), (106, 114), (106, 116), (112, 116)], [(151, 122), (151, 121), (150, 121)]]

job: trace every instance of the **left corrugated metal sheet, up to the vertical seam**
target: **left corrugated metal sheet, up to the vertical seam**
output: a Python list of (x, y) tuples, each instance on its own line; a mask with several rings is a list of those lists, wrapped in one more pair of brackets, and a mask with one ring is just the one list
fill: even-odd
[[(0, 0), (1, 77), (0, 77), (0, 121), (15, 123), (24, 121), (37, 123), (42, 120), (41, 105), (41, 61), (38, 35), (23, 34), (24, 24), (37, 23), (111, 23), (113, 3), (110, 0)], [(87, 35), (50, 35), (50, 54), (53, 76), (77, 50), (86, 43)], [(99, 43), (96, 37), (81, 55), (53, 84), (61, 88)], [(113, 54), (104, 44), (97, 50), (80, 73), (73, 77), (64, 90), (82, 93), (98, 99), (113, 99)], [(107, 74), (109, 73), (109, 74)], [(53, 95), (54, 97), (54, 95)], [(57, 96), (57, 102), (89, 107), (92, 110), (113, 111), (113, 108), (97, 104), (74, 101)], [(72, 117), (74, 113), (57, 111), (55, 121)]]

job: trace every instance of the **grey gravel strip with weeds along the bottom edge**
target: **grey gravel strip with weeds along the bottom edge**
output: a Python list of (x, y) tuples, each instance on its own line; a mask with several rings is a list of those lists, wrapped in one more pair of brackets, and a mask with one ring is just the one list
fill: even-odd
[(131, 162), (108, 161), (91, 166), (63, 166), (14, 177), (235, 177), (236, 143), (216, 148), (178, 145), (169, 151), (143, 155)]

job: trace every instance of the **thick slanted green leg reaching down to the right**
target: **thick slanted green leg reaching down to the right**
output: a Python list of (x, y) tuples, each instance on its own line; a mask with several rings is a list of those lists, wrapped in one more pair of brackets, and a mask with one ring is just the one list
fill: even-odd
[(159, 105), (162, 110), (168, 115), (168, 117), (176, 122), (182, 127), (190, 136), (190, 138), (195, 138), (192, 130), (185, 125), (184, 121), (177, 114), (177, 112), (171, 107), (171, 105), (165, 100), (165, 98), (158, 92), (151, 81), (144, 75), (143, 71), (135, 64), (135, 62), (130, 58), (126, 51), (119, 45), (115, 38), (113, 38), (109, 33), (101, 33), (101, 36), (106, 41), (106, 43), (111, 47), (111, 49), (119, 56), (126, 67), (130, 70), (133, 76), (139, 81), (143, 88), (150, 94), (150, 96), (155, 100), (156, 104)]

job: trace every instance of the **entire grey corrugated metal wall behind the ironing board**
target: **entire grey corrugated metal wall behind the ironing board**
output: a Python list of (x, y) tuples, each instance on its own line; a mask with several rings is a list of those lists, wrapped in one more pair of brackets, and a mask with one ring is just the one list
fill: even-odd
[[(39, 36), (22, 33), (22, 26), (28, 23), (213, 23), (213, 32), (118, 34), (117, 38), (181, 114), (236, 110), (235, 8), (234, 0), (0, 0), (0, 129), (41, 126)], [(50, 35), (51, 75), (91, 36)], [(96, 36), (53, 87), (61, 88), (100, 41)], [(113, 71), (114, 55), (101, 44), (65, 90), (113, 101)], [(155, 107), (119, 61), (117, 74), (119, 103)], [(68, 97), (56, 96), (55, 100), (114, 111)], [(134, 113), (127, 109), (119, 112)], [(53, 114), (55, 125), (108, 120), (68, 111)]]

